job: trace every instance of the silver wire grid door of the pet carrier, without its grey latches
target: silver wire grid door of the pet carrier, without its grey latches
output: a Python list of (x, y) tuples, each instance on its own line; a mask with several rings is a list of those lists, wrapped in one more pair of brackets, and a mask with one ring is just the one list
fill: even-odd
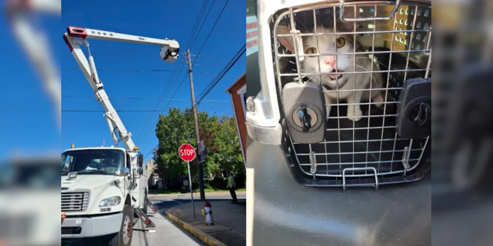
[[(428, 141), (431, 141), (429, 136), (423, 139), (399, 138), (396, 133), (396, 117), (404, 81), (431, 77), (431, 6), (402, 2), (392, 18), (376, 20), (391, 16), (395, 7), (394, 3), (384, 1), (374, 1), (371, 4), (345, 3), (344, 13), (352, 13), (351, 16), (345, 15), (346, 18), (364, 19), (355, 22), (339, 21), (339, 2), (284, 9), (271, 19), (271, 30), (274, 30), (271, 40), (273, 62), (279, 92), (288, 82), (303, 81), (321, 83), (326, 98), (329, 93), (335, 95), (332, 99), (326, 99), (328, 127), (323, 142), (298, 144), (289, 138), (288, 150), (302, 173), (312, 178), (313, 185), (316, 185), (318, 179), (335, 179), (338, 185), (345, 185), (342, 183), (349, 179), (355, 181), (355, 185), (375, 184), (373, 177), (406, 176), (417, 168), (421, 159), (424, 161), (427, 157), (423, 155), (427, 153), (425, 150), (428, 148)], [(342, 29), (337, 25), (350, 29), (352, 27), (352, 30), (341, 33)], [(279, 33), (280, 26), (288, 27), (290, 31), (299, 30), (301, 42), (297, 42), (292, 32), (284, 35)], [(320, 36), (334, 36), (335, 33), (337, 35), (334, 40), (338, 41), (341, 36), (352, 36), (353, 40), (346, 38), (346, 42), (353, 47), (352, 51), (341, 52), (343, 49), (337, 46), (338, 41), (332, 44), (319, 41), (326, 40)], [(281, 41), (283, 37), (293, 40), (296, 49), (292, 47), (292, 51), (303, 53), (296, 54), (286, 48)], [(310, 51), (311, 48), (306, 49), (310, 37), (316, 37), (317, 44), (314, 48), (317, 52), (313, 52), (313, 49)], [(337, 52), (322, 54), (322, 45), (333, 45), (333, 50)], [(318, 57), (317, 72), (309, 71), (312, 68), (306, 63), (308, 56)], [(356, 65), (348, 69), (349, 71), (336, 69), (330, 74), (341, 74), (347, 77), (346, 81), (350, 81), (351, 77), (354, 81), (364, 76), (368, 81), (380, 80), (381, 86), (378, 83), (368, 83), (365, 88), (356, 88), (355, 83), (347, 83), (353, 84), (349, 89), (344, 84), (340, 87), (336, 85), (335, 89), (328, 88), (326, 84), (324, 86), (324, 76), (327, 77), (328, 73), (320, 66), (324, 63), (322, 60), (329, 56), (337, 57), (335, 67), (338, 68), (338, 61), (344, 59), (373, 61), (369, 62), (372, 64), (370, 69), (362, 69), (355, 62)], [(332, 77), (338, 84), (342, 78), (340, 75)], [(358, 102), (357, 99), (351, 99), (351, 95), (357, 98), (357, 93), (367, 92), (371, 92), (367, 100)], [(378, 98), (375, 96), (377, 94), (381, 95), (382, 100), (375, 99)], [(347, 113), (348, 109), (357, 111), (356, 106), (360, 107), (361, 115)]]

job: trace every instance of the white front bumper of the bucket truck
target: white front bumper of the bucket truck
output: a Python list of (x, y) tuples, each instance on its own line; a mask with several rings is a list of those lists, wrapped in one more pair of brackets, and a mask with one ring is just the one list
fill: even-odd
[(86, 238), (118, 233), (123, 214), (94, 217), (65, 218), (62, 222), (62, 238)]

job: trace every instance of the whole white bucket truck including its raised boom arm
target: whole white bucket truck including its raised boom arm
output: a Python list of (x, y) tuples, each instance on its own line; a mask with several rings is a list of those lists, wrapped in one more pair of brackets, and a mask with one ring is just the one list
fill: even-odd
[[(61, 189), (62, 239), (108, 236), (110, 246), (129, 246), (133, 225), (140, 218), (146, 230), (155, 225), (147, 217), (148, 174), (144, 157), (139, 152), (118, 114), (114, 110), (103, 83), (99, 80), (87, 39), (123, 41), (161, 46), (163, 61), (178, 59), (179, 44), (175, 40), (155, 39), (85, 28), (68, 27), (64, 34), (72, 55), (89, 82), (96, 99), (103, 105), (104, 117), (116, 147), (72, 148), (62, 154)], [(84, 45), (88, 60), (80, 49)], [(118, 137), (120, 139), (118, 139)], [(118, 148), (121, 142), (124, 148)], [(155, 208), (153, 208), (155, 211)], [(137, 217), (134, 218), (134, 215)], [(104, 237), (103, 237), (104, 238)]]

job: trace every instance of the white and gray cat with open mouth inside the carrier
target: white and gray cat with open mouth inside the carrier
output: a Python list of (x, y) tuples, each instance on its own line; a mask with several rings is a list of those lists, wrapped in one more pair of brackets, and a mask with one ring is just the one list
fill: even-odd
[[(354, 30), (352, 23), (338, 23), (336, 28), (337, 32), (349, 32), (350, 30)], [(290, 31), (291, 28), (286, 26), (280, 25), (277, 28), (277, 34), (290, 34)], [(317, 27), (316, 31), (318, 33), (334, 33), (333, 28), (325, 28), (322, 26)], [(314, 33), (314, 31), (311, 33)], [(284, 47), (286, 47), (292, 54), (295, 54), (292, 36), (277, 38)], [(306, 55), (335, 54), (336, 48), (337, 53), (353, 53), (354, 50), (356, 50), (356, 52), (365, 51), (358, 42), (356, 42), (356, 49), (353, 48), (353, 34), (310, 35), (303, 36), (302, 40), (303, 51)], [(353, 74), (333, 75), (330, 73), (371, 71), (372, 62), (373, 60), (368, 54), (356, 54), (356, 60), (354, 59), (354, 55), (322, 55), (312, 57), (305, 56), (300, 65), (303, 73), (329, 74), (307, 76), (310, 82), (320, 83), (324, 87), (327, 115), (330, 114), (331, 105), (334, 102), (337, 102), (339, 93), (339, 100), (345, 100), (349, 104), (347, 107), (348, 119), (357, 122), (361, 120), (361, 117), (363, 116), (359, 103), (361, 101), (369, 101), (369, 99), (372, 98), (372, 102), (377, 103), (376, 105), (379, 107), (384, 101), (381, 91), (336, 92), (335, 90), (364, 90), (369, 89), (370, 85), (372, 86), (372, 89), (382, 88), (383, 82), (381, 73), (373, 73), (372, 84), (370, 84), (370, 73), (356, 73), (356, 77), (354, 77)], [(373, 71), (379, 70), (378, 64), (375, 62), (373, 63)], [(356, 78), (356, 80), (354, 78)], [(327, 92), (327, 90), (331, 92)]]

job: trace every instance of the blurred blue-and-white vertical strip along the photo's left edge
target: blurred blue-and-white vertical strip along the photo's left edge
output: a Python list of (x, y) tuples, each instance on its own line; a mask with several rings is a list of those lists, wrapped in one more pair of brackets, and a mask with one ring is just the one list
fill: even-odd
[(0, 245), (60, 245), (61, 0), (1, 10)]

